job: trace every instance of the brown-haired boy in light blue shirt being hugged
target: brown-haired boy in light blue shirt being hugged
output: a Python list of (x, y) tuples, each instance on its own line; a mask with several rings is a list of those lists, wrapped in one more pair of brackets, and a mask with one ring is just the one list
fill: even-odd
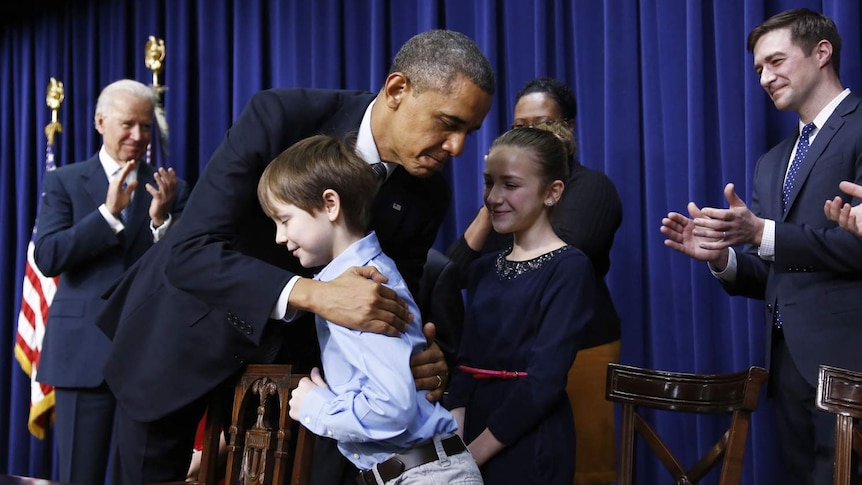
[(330, 281), (356, 266), (374, 266), (409, 307), (413, 320), (399, 337), (361, 332), (315, 319), (324, 380), (317, 368), (290, 399), (290, 417), (333, 438), (359, 468), (359, 483), (482, 483), (452, 415), (416, 390), (410, 356), (423, 350), (419, 309), (395, 262), (372, 231), (377, 191), (371, 167), (343, 141), (318, 135), (270, 163), (258, 199), (276, 224), (276, 242), (305, 267), (325, 267)]

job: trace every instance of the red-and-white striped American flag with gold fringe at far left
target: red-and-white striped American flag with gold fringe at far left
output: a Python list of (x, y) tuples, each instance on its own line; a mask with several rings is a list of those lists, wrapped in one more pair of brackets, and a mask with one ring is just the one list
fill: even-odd
[[(48, 143), (45, 152), (45, 170), (54, 170), (54, 150)], [(30, 417), (27, 428), (37, 438), (44, 439), (54, 421), (54, 388), (36, 382), (39, 354), (45, 336), (48, 309), (57, 292), (58, 278), (43, 275), (33, 259), (36, 227), (27, 245), (27, 262), (24, 266), (24, 284), (21, 292), (21, 310), (18, 312), (18, 334), (15, 338), (15, 357), (24, 372), (30, 376)]]

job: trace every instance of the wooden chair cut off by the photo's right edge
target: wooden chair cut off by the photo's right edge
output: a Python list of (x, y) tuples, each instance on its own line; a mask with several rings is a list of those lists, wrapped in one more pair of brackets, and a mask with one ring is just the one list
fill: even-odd
[(821, 365), (817, 408), (836, 415), (833, 483), (850, 485), (862, 456), (862, 432), (856, 423), (862, 418), (862, 372)]

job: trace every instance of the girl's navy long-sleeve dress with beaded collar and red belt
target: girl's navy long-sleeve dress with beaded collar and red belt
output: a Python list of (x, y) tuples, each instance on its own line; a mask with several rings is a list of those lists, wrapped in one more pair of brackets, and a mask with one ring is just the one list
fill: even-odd
[(526, 371), (474, 379), (454, 369), (446, 404), (465, 407), (464, 439), (486, 427), (506, 444), (482, 467), (485, 483), (572, 483), (575, 426), (566, 376), (595, 306), (595, 273), (572, 246), (513, 262), (510, 250), (472, 266), (459, 365)]

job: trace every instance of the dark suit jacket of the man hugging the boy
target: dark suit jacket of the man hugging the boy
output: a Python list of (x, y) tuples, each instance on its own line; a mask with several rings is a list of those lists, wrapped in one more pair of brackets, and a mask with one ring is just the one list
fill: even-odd
[[(100, 316), (113, 338), (105, 377), (132, 418), (158, 419), (203, 397), (243, 364), (272, 361), (273, 345), (285, 345), (294, 364), (319, 361), (312, 318), (269, 320), (290, 278), (311, 272), (275, 244), (258, 179), (300, 139), (358, 130), (373, 98), (272, 89), (249, 101), (195, 185), (183, 223), (126, 273)], [(372, 229), (411, 290), (448, 204), (440, 174), (420, 179), (401, 167), (378, 192)]]

